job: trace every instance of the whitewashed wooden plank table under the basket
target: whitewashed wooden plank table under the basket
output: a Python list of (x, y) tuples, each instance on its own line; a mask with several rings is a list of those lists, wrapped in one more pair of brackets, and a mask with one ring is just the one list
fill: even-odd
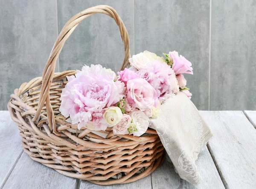
[(9, 112), (0, 111), (0, 189), (256, 189), (256, 111), (202, 111), (215, 134), (198, 156), (201, 183), (179, 178), (169, 158), (134, 183), (98, 186), (69, 178), (23, 152)]

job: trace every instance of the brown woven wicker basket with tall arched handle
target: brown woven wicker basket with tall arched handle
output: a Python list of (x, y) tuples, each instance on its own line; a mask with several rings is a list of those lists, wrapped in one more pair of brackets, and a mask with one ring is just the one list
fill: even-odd
[(56, 60), (81, 20), (96, 13), (107, 14), (116, 21), (125, 45), (121, 69), (128, 65), (129, 37), (116, 11), (110, 6), (86, 9), (72, 17), (61, 30), (43, 76), (15, 89), (8, 109), (20, 129), (24, 152), (33, 160), (63, 175), (99, 185), (130, 183), (146, 177), (163, 163), (166, 152), (157, 132), (148, 129), (141, 137), (135, 137), (114, 135), (111, 128), (100, 132), (78, 130), (77, 124), (66, 122), (59, 112), (66, 76), (76, 72), (54, 73)]

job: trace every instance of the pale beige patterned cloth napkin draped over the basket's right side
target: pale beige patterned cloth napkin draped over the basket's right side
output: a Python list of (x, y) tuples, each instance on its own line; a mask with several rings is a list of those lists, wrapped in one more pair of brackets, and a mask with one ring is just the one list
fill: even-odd
[(213, 134), (186, 94), (179, 92), (169, 97), (149, 127), (157, 131), (180, 178), (198, 185), (200, 175), (195, 160)]

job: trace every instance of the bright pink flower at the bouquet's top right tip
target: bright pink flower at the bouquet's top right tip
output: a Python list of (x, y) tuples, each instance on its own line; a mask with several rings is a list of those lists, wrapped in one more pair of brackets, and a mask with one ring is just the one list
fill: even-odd
[(192, 64), (189, 60), (186, 60), (183, 56), (179, 56), (176, 51), (169, 52), (169, 60), (173, 61), (172, 69), (175, 74), (193, 74)]

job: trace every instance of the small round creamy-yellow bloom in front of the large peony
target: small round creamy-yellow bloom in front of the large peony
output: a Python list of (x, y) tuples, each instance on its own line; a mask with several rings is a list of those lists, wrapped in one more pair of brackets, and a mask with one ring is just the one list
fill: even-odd
[(103, 118), (109, 126), (115, 126), (122, 119), (122, 111), (119, 107), (111, 106), (105, 109)]

